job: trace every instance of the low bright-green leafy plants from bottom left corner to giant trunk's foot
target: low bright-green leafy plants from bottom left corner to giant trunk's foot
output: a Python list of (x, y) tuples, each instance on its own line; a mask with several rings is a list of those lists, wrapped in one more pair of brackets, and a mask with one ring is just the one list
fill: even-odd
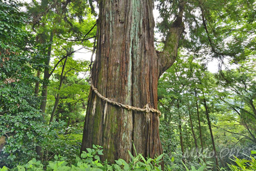
[(141, 154), (133, 156), (130, 152), (131, 162), (127, 163), (123, 159), (115, 160), (115, 164), (109, 164), (107, 161), (101, 162), (100, 157), (103, 155), (102, 149), (98, 145), (93, 145), (93, 149), (87, 148), (87, 152), (83, 152), (81, 157), (77, 157), (74, 164), (69, 165), (66, 158), (55, 156), (55, 161), (49, 161), (49, 164), (44, 168), (40, 161), (32, 159), (25, 165), (18, 165), (12, 169), (7, 167), (0, 168), (0, 171), (17, 170), (17, 171), (53, 171), (53, 170), (162, 170), (161, 161), (163, 154), (155, 159), (145, 159)]

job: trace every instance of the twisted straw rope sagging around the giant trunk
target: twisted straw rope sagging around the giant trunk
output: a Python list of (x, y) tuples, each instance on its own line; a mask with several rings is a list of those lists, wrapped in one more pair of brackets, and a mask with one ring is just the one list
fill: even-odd
[(150, 108), (150, 107), (148, 106), (148, 104), (146, 104), (146, 105), (144, 106), (144, 108), (137, 108), (137, 107), (134, 107), (134, 106), (131, 106), (131, 105), (126, 105), (126, 104), (122, 104), (122, 103), (119, 103), (119, 102), (116, 102), (116, 101), (112, 101), (112, 100), (110, 100), (110, 99), (108, 99), (108, 98), (102, 96), (102, 95), (98, 92), (97, 88), (95, 88), (95, 87), (93, 86), (93, 80), (92, 80), (92, 78), (90, 78), (90, 81), (91, 81), (92, 90), (93, 90), (94, 93), (97, 94), (97, 96), (98, 96), (99, 98), (101, 98), (103, 101), (106, 101), (106, 102), (111, 103), (111, 104), (113, 104), (113, 105), (117, 105), (117, 106), (119, 106), (120, 108), (124, 108), (124, 109), (127, 109), (127, 110), (133, 110), (133, 111), (139, 111), (139, 112), (146, 112), (146, 113), (152, 112), (152, 113), (157, 113), (159, 116), (161, 116), (161, 112), (160, 112), (159, 110)]

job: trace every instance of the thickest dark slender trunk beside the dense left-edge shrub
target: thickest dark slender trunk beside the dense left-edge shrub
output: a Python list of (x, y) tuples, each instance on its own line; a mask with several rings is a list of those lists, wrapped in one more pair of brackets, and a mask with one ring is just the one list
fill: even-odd
[(46, 112), (46, 102), (47, 102), (47, 89), (48, 89), (48, 80), (50, 78), (49, 74), (49, 63), (52, 52), (52, 41), (53, 41), (53, 32), (50, 34), (49, 47), (47, 52), (47, 59), (45, 61), (45, 70), (44, 70), (44, 82), (42, 83), (42, 100), (40, 105), (40, 110), (44, 114)]

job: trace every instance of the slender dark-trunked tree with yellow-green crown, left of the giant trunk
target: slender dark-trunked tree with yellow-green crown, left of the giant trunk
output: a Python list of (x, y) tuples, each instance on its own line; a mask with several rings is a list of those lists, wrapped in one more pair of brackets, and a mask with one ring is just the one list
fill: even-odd
[[(45, 44), (44, 78), (42, 82), (42, 100), (40, 110), (45, 113), (49, 79), (57, 65), (77, 51), (70, 49), (74, 45), (90, 47), (89, 41), (95, 36), (95, 19), (90, 14), (84, 1), (33, 1), (27, 4), (28, 14), (33, 18), (32, 29), (37, 33), (41, 44)], [(84, 36), (85, 35), (85, 36)], [(80, 49), (78, 49), (80, 50)], [(53, 55), (53, 56), (52, 56)], [(58, 57), (58, 62), (51, 68), (51, 57)]]

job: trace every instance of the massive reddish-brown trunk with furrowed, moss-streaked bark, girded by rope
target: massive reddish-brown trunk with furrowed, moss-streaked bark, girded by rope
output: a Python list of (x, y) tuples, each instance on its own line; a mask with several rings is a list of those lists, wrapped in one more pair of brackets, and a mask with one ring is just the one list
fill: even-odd
[[(94, 86), (113, 101), (139, 108), (148, 104), (156, 109), (158, 78), (176, 56), (169, 54), (162, 63), (162, 53), (157, 54), (154, 48), (153, 1), (106, 0), (98, 4), (97, 52), (91, 71)], [(178, 49), (178, 44), (175, 46)], [(81, 151), (98, 144), (103, 146), (103, 160), (129, 161), (127, 152), (135, 154), (133, 143), (137, 153), (145, 157), (162, 154), (159, 117), (106, 104), (91, 91)]]

